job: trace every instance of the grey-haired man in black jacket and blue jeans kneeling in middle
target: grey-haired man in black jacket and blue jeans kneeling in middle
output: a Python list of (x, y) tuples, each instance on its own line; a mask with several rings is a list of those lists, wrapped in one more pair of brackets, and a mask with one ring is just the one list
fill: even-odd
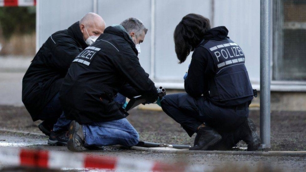
[(130, 99), (142, 95), (147, 103), (159, 102), (157, 88), (137, 57), (146, 32), (140, 20), (126, 19), (106, 28), (73, 60), (60, 89), (65, 115), (73, 120), (67, 143), (70, 151), (138, 143), (138, 132), (125, 118), (129, 113), (114, 99), (120, 92)]

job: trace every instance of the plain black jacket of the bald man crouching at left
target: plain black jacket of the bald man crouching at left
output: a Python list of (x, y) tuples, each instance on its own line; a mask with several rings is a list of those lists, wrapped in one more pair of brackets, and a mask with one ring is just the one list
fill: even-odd
[(41, 46), (22, 79), (22, 102), (34, 121), (59, 91), (72, 60), (86, 47), (79, 22), (52, 34)]

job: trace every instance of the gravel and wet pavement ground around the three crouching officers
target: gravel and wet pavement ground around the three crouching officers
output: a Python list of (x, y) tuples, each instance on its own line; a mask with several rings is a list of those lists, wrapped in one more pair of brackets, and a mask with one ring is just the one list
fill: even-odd
[[(251, 110), (250, 118), (259, 130), (259, 111)], [(193, 144), (185, 131), (162, 111), (131, 110), (127, 119), (136, 128), (143, 141), (168, 144)], [(37, 128), (41, 121), (33, 122), (24, 107), (0, 106), (0, 129), (22, 131), (0, 131), (0, 148), (26, 147), (48, 151), (71, 153), (66, 146), (49, 146), (47, 137)], [(271, 113), (271, 151), (305, 151), (306, 150), (306, 115), (304, 112)], [(25, 133), (24, 133), (25, 132)], [(27, 132), (37, 133), (28, 134)], [(259, 131), (258, 131), (259, 133)], [(244, 142), (239, 146), (245, 147)], [(241, 151), (241, 150), (240, 150)], [(266, 150), (265, 150), (266, 151)], [(104, 151), (86, 151), (84, 154), (95, 157), (107, 156), (143, 162), (155, 161), (184, 167), (185, 164), (199, 166), (205, 171), (304, 171), (305, 156), (258, 156), (217, 153), (171, 153), (124, 149), (118, 146), (106, 146)], [(42, 169), (40, 169), (42, 170)], [(43, 169), (44, 171), (46, 169)], [(11, 167), (0, 162), (0, 171), (35, 171), (33, 168)], [(57, 171), (57, 170), (51, 170)], [(99, 171), (92, 169), (62, 169), (61, 171)], [(120, 170), (131, 171), (131, 170)], [(189, 170), (192, 171), (192, 170)]]

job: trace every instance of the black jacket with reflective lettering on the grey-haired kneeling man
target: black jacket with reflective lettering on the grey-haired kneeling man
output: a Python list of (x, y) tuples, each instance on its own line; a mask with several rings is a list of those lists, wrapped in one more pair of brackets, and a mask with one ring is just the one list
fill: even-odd
[[(113, 101), (117, 92), (130, 97), (129, 84), (147, 102), (155, 102), (157, 89), (140, 66), (129, 34), (114, 27), (105, 29), (95, 43), (72, 62), (60, 89), (60, 101), (68, 119), (85, 124), (124, 118)], [(136, 91), (135, 91), (136, 90)]]

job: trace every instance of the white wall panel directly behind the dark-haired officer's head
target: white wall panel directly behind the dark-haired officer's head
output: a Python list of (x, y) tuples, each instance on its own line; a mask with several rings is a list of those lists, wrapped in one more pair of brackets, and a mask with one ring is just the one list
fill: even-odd
[(182, 18), (189, 13), (197, 13), (210, 18), (212, 15), (211, 9), (211, 1), (156, 1), (155, 76), (157, 80), (183, 83), (183, 77), (188, 70), (191, 55), (183, 64), (178, 64), (179, 60), (176, 58), (173, 42), (174, 29)]

